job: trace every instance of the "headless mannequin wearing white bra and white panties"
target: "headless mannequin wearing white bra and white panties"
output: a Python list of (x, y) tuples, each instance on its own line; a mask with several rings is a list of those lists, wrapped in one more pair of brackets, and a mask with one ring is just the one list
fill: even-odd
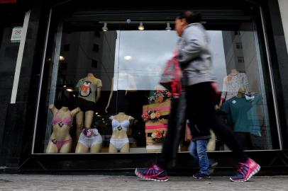
[(109, 144), (109, 153), (128, 153), (129, 152), (129, 139), (128, 130), (133, 123), (134, 118), (126, 115), (124, 112), (119, 112), (117, 115), (109, 117), (112, 120), (112, 136)]

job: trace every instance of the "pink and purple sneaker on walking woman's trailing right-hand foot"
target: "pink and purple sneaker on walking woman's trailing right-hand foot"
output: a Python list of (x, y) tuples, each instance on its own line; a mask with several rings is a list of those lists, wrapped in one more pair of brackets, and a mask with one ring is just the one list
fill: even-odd
[(230, 180), (232, 182), (246, 182), (253, 175), (258, 173), (260, 170), (260, 165), (253, 161), (251, 158), (248, 158), (245, 163), (238, 164), (238, 173), (231, 176)]

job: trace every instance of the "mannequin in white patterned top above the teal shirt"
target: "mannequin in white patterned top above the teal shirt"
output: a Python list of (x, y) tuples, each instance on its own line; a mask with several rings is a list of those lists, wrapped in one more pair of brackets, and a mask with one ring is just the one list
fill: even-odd
[(237, 96), (240, 87), (244, 87), (246, 91), (249, 91), (248, 78), (245, 73), (232, 69), (231, 73), (223, 79), (223, 90), (219, 107), (222, 107), (224, 100)]

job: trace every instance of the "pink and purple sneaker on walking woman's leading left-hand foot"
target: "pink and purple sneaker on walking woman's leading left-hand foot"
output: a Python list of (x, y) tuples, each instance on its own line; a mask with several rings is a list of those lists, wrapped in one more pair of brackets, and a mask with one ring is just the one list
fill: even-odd
[(138, 169), (135, 170), (135, 175), (143, 180), (150, 180), (150, 181), (167, 181), (167, 171), (160, 168), (157, 165), (153, 165), (148, 169)]

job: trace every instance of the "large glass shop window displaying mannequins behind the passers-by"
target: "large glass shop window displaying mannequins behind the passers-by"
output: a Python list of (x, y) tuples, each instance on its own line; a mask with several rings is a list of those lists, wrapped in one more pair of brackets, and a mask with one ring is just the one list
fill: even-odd
[[(45, 59), (33, 152), (161, 151), (171, 93), (158, 82), (178, 40), (174, 30), (165, 30), (173, 22), (167, 23), (57, 22)], [(140, 24), (145, 30), (138, 30)], [(215, 107), (244, 149), (275, 149), (271, 132), (277, 127), (270, 122), (270, 88), (254, 28), (249, 21), (233, 30), (207, 30), (221, 91)], [(228, 150), (211, 134), (209, 151)], [(183, 139), (180, 151), (188, 145)]]

